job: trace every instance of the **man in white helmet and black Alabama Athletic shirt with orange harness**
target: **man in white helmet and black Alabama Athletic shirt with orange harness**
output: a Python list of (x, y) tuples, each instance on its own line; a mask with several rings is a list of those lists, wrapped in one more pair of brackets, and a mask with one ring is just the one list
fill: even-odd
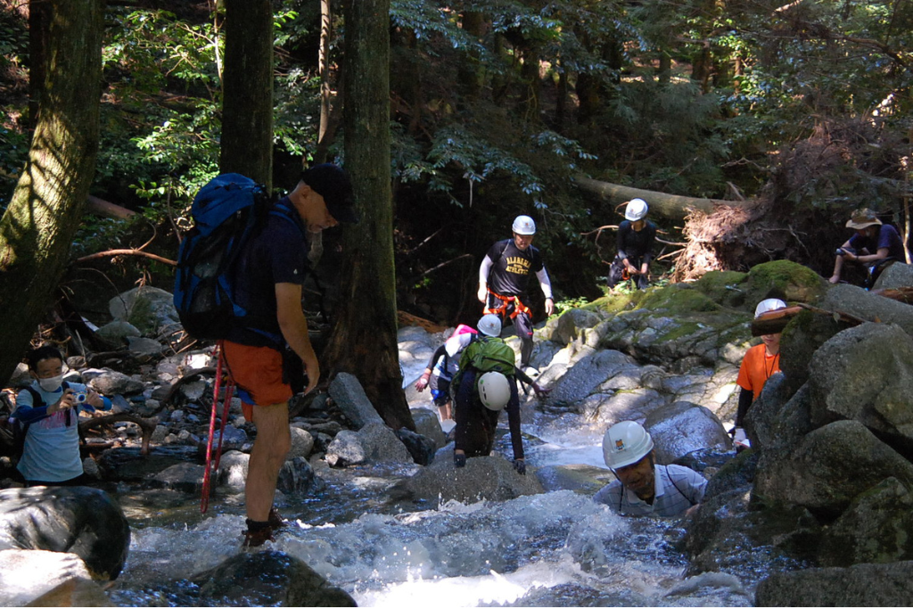
[(488, 249), (478, 268), (478, 301), (485, 313), (494, 313), (501, 323), (513, 320), (520, 340), (519, 366), (526, 371), (532, 355), (532, 320), (530, 308), (523, 304), (530, 276), (539, 279), (545, 295), (545, 314), (551, 316), (555, 302), (551, 279), (538, 248), (532, 246), (536, 223), (529, 215), (514, 220), (513, 237), (497, 241)]

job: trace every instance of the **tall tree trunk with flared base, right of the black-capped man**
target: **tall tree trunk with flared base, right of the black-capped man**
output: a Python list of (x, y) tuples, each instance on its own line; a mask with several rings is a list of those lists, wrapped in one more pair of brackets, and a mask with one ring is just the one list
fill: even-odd
[(361, 224), (344, 229), (341, 308), (323, 352), (331, 374), (358, 377), (384, 422), (415, 430), (396, 341), (390, 185), (390, 0), (346, 0), (346, 169)]

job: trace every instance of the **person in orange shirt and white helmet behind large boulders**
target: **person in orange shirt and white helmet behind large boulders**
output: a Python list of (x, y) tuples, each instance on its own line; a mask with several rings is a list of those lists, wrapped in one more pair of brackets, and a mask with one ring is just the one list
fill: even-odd
[[(758, 303), (754, 310), (754, 317), (758, 319), (764, 313), (771, 310), (785, 309), (786, 303), (781, 299), (764, 299)], [(748, 413), (751, 404), (761, 395), (761, 389), (764, 383), (771, 378), (773, 373), (780, 372), (780, 337), (781, 332), (776, 334), (764, 334), (761, 336), (761, 344), (751, 347), (745, 357), (742, 359), (739, 369), (739, 378), (736, 383), (741, 387), (739, 394), (739, 409), (736, 411), (736, 426), (733, 430), (733, 443), (738, 450), (741, 447), (750, 446), (748, 438), (742, 429), (742, 422)]]

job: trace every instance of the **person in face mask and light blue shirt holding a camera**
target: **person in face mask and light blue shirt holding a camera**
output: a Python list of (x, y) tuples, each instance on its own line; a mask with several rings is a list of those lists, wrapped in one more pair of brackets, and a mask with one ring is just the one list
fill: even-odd
[(63, 356), (45, 345), (26, 355), (35, 379), (16, 395), (11, 418), (25, 435), (16, 468), (30, 487), (81, 486), (85, 483), (79, 456), (79, 413), (110, 410), (111, 402), (82, 383), (63, 380)]

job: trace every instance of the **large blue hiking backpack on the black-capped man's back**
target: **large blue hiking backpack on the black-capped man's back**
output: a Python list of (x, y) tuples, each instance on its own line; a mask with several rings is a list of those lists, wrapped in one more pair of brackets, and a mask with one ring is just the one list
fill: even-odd
[(195, 339), (224, 339), (247, 314), (236, 300), (235, 262), (268, 205), (266, 188), (240, 173), (215, 176), (194, 197), (194, 227), (178, 252), (174, 308)]

